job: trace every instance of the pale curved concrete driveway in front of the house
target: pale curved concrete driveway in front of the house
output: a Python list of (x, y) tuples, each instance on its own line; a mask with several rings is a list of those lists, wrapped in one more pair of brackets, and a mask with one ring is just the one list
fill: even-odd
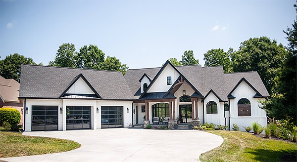
[(197, 130), (110, 128), (38, 131), (24, 135), (74, 140), (82, 147), (63, 153), (5, 158), (8, 162), (194, 162), (220, 146), (220, 136)]

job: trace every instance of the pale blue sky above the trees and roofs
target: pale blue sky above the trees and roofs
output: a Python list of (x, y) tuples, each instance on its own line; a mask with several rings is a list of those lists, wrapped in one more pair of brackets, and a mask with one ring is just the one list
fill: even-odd
[(295, 0), (7, 0), (0, 1), (0, 55), (47, 65), (64, 42), (96, 44), (130, 68), (159, 67), (194, 50), (238, 49), (253, 37), (287, 44)]

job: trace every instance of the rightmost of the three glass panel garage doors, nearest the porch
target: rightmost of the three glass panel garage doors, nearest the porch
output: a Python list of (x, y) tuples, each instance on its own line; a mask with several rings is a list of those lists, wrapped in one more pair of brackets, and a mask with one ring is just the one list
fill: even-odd
[(123, 127), (123, 106), (101, 106), (101, 128)]

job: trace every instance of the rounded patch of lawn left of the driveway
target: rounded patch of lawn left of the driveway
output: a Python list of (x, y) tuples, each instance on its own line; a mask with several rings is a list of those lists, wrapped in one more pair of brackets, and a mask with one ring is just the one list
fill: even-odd
[(71, 140), (0, 132), (0, 158), (60, 153), (79, 147), (79, 143)]

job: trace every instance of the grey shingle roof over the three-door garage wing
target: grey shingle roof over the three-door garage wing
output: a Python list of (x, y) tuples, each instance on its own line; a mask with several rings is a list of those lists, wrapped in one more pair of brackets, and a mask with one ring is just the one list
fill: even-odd
[[(80, 74), (102, 99), (132, 100), (134, 98), (121, 72), (28, 64), (21, 66), (20, 98), (60, 98), (65, 89)], [(136, 79), (138, 80), (139, 78)], [(73, 97), (79, 96), (67, 96), (67, 98)]]

